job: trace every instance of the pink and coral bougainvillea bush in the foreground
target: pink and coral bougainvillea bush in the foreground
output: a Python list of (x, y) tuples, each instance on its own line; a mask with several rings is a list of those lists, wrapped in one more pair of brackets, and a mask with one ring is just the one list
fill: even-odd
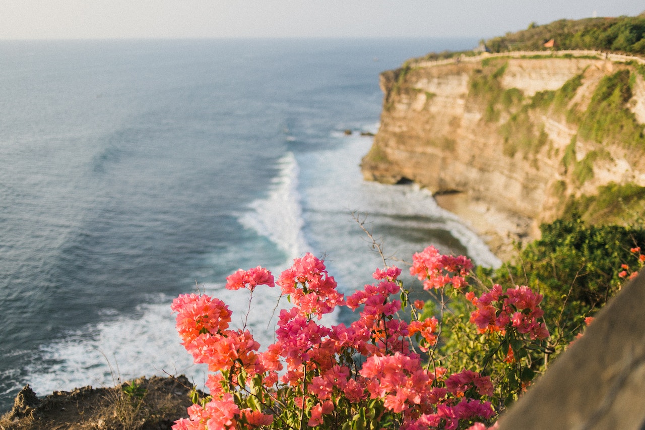
[[(376, 269), (375, 283), (347, 297), (312, 254), (277, 280), (262, 267), (240, 269), (227, 289), (252, 296), (278, 285), (293, 305), (265, 348), (230, 327), (221, 300), (179, 296), (177, 330), (195, 362), (208, 365), (210, 395), (196, 397), (173, 428), (485, 429), (543, 368), (549, 331), (541, 294), (470, 285), (471, 269), (468, 258), (433, 247), (415, 254), (410, 273), (428, 300), (412, 303), (397, 267)], [(338, 307), (354, 321), (322, 325)]]

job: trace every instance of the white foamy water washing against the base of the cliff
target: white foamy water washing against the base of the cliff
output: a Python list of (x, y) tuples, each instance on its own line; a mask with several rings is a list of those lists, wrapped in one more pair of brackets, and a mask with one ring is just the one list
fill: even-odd
[[(311, 241), (323, 246), (322, 251), (333, 251), (339, 246), (351, 247), (348, 238), (333, 240), (333, 237), (325, 237), (324, 232), (332, 231), (335, 234), (330, 236), (338, 236), (339, 229), (333, 224), (341, 225), (341, 222), (334, 218), (340, 216), (352, 221), (350, 213), (361, 212), (366, 214), (368, 225), (372, 222), (373, 225), (389, 225), (393, 229), (428, 230), (426, 245), (433, 241), (430, 236), (432, 230), (444, 230), (461, 243), (475, 263), (491, 267), (500, 265), (484, 241), (457, 216), (439, 207), (428, 190), (418, 185), (394, 187), (363, 181), (359, 162), (372, 145), (372, 139), (355, 135), (336, 139), (344, 139), (344, 143), (328, 150), (307, 152), (299, 159), (301, 165), (312, 167), (301, 174), (304, 219), (306, 230), (316, 236)], [(386, 245), (394, 245), (393, 249), (409, 251), (410, 245), (415, 246), (415, 243), (402, 243), (406, 240), (392, 237), (388, 229), (377, 233)], [(416, 246), (424, 246), (422, 240), (413, 242), (418, 242)], [(406, 255), (398, 257), (410, 258)]]

